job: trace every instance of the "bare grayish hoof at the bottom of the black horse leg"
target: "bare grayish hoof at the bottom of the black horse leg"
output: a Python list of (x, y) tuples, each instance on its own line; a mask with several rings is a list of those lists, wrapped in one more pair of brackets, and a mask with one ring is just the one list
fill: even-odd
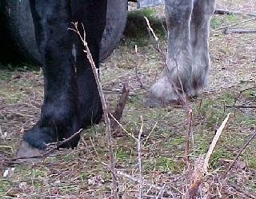
[(36, 149), (30, 146), (26, 141), (22, 141), (22, 145), (18, 149), (16, 157), (20, 157), (18, 161), (39, 161), (42, 159), (43, 154), (46, 153), (46, 150)]

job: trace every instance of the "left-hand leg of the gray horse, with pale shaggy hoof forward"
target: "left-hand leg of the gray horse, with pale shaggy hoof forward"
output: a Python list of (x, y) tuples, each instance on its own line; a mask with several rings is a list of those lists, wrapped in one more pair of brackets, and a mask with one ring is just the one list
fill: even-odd
[(148, 105), (164, 105), (178, 100), (178, 95), (169, 80), (179, 90), (190, 90), (192, 71), (192, 53), (190, 45), (190, 19), (193, 0), (166, 0), (166, 23), (168, 28), (168, 47), (166, 65), (161, 77), (150, 89)]

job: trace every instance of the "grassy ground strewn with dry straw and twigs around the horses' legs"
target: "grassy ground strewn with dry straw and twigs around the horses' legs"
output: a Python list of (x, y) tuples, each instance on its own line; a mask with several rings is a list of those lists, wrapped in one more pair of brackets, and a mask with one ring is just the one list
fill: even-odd
[[(256, 13), (253, 0), (218, 0), (216, 7)], [(162, 6), (154, 10), (143, 10), (142, 13), (158, 16), (163, 13)], [(250, 21), (245, 22), (248, 19)], [(224, 28), (255, 29), (255, 17), (214, 15), (210, 27), (208, 85), (201, 96), (189, 101), (193, 110), (192, 165), (199, 155), (206, 154), (227, 113), (232, 114), (214, 149), (208, 173), (202, 178), (198, 198), (255, 198), (255, 138), (238, 157), (226, 178), (220, 178), (242, 145), (256, 131), (256, 34), (223, 34), (222, 31)], [(154, 50), (154, 41), (147, 34), (139, 35), (138, 39), (127, 32), (114, 54), (101, 65), (106, 101), (113, 111), (123, 84), (128, 85), (130, 96), (121, 124), (135, 137), (143, 124), (142, 177), (158, 187), (165, 185), (169, 194), (163, 193), (162, 198), (172, 198), (170, 193), (174, 198), (181, 198), (190, 181), (184, 161), (186, 113), (182, 105), (149, 108), (143, 104), (150, 86), (162, 70), (162, 60)], [(162, 32), (159, 34), (165, 49)], [(138, 46), (138, 53), (134, 45)], [(43, 98), (42, 72), (26, 64), (16, 69), (13, 65), (2, 66), (0, 85), (0, 158), (14, 157), (22, 133), (38, 121)], [(114, 130), (113, 141), (118, 170), (138, 177), (138, 151), (134, 138), (120, 127)], [(105, 165), (108, 161), (105, 125), (102, 122), (83, 130), (77, 149), (62, 150), (35, 163), (1, 165), (0, 197), (110, 198), (111, 175)], [(122, 198), (138, 197), (138, 185), (134, 181), (119, 177), (118, 185)], [(143, 198), (156, 198), (158, 195), (158, 190), (148, 185), (143, 186), (142, 191)]]

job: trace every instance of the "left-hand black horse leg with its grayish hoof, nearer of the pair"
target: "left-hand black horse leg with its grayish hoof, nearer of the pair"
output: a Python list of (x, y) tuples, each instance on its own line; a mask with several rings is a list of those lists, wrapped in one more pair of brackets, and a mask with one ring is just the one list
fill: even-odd
[[(30, 0), (30, 7), (36, 42), (42, 53), (45, 94), (41, 117), (24, 134), (18, 156), (30, 154), (32, 149), (34, 153), (38, 153), (38, 149), (46, 149), (47, 144), (72, 136), (80, 126), (71, 31), (67, 30), (71, 18), (70, 1)], [(79, 135), (62, 146), (74, 147), (78, 139)]]

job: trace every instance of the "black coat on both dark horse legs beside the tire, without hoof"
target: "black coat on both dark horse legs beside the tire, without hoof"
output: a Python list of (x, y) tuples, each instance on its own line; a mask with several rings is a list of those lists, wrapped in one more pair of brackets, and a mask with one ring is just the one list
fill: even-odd
[[(83, 33), (83, 24), (98, 67), (106, 6), (106, 0), (30, 0), (42, 54), (45, 96), (38, 123), (24, 134), (26, 144), (46, 149), (48, 143), (62, 141), (102, 117), (97, 84), (82, 42), (68, 28), (78, 22)], [(79, 136), (74, 137), (63, 147), (74, 148), (78, 140)]]

